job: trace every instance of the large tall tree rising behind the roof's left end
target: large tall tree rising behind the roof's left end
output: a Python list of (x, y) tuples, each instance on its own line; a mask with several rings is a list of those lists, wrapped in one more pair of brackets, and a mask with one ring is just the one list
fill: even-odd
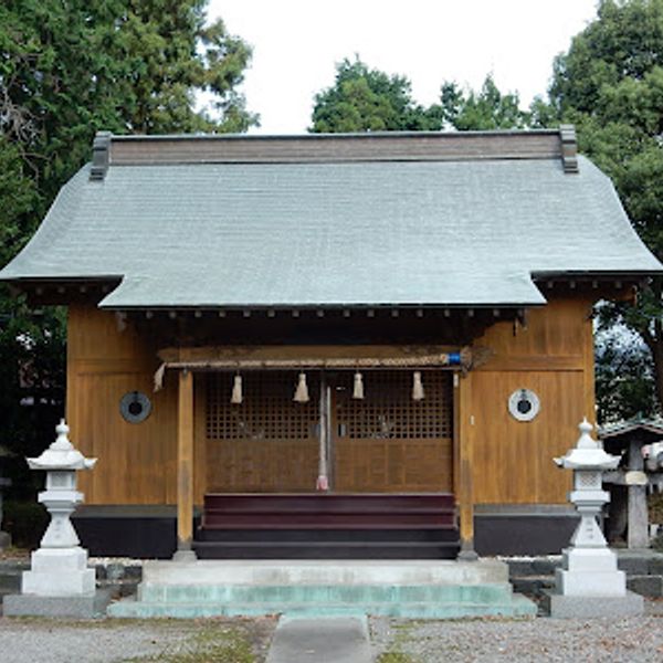
[[(9, 0), (0, 7), (0, 134), (36, 181), (41, 217), (90, 156), (118, 134), (240, 131), (257, 118), (236, 86), (251, 51), (207, 0)], [(196, 109), (213, 95), (214, 115)]]

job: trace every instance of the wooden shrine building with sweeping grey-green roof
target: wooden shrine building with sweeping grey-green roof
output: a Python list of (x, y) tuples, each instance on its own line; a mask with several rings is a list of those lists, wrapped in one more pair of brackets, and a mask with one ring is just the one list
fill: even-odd
[(592, 307), (662, 269), (568, 126), (102, 133), (0, 278), (67, 307), (92, 554), (454, 558), (568, 543)]

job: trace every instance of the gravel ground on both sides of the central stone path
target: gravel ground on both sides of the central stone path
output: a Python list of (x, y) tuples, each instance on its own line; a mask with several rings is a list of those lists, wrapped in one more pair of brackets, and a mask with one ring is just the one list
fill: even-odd
[[(646, 617), (622, 620), (372, 618), (372, 649), (379, 663), (660, 662), (663, 603), (648, 601), (648, 608)], [(275, 627), (275, 618), (98, 622), (0, 618), (0, 662), (264, 663)], [(253, 656), (240, 659), (232, 652), (206, 655), (210, 639), (218, 644), (224, 638), (248, 642)], [(192, 652), (197, 652), (194, 656)]]

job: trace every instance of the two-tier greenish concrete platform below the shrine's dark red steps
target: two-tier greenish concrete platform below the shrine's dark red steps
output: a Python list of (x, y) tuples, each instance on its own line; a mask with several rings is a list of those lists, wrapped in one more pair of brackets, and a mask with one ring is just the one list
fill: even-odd
[(147, 562), (138, 596), (108, 607), (124, 618), (376, 614), (419, 619), (536, 614), (514, 596), (507, 567), (474, 562), (202, 560)]

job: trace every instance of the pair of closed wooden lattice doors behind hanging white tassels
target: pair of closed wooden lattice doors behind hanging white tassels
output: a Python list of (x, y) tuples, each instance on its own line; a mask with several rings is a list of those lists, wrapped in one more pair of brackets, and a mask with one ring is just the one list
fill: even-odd
[[(412, 371), (326, 377), (330, 398), (330, 487), (338, 493), (452, 491), (452, 376), (424, 371), (425, 398), (412, 400)], [(314, 492), (318, 475), (319, 375), (311, 400), (293, 402), (295, 371), (243, 375), (244, 401), (230, 403), (233, 376), (207, 377), (207, 486), (219, 493)]]

